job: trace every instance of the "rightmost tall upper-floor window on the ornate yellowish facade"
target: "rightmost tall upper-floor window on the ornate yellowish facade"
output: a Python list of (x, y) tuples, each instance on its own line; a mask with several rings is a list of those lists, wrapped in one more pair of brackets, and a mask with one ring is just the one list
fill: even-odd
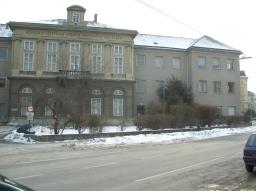
[(113, 60), (113, 73), (123, 74), (124, 73), (124, 47), (114, 46), (114, 60)]

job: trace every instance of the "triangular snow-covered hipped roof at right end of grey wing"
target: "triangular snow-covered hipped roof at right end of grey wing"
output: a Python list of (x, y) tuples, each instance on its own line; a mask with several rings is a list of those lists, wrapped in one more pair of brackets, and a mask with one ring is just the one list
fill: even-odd
[(222, 50), (236, 50), (222, 42), (219, 42), (209, 36), (203, 36), (199, 38), (192, 47), (199, 47), (199, 48), (212, 48), (212, 49), (222, 49)]

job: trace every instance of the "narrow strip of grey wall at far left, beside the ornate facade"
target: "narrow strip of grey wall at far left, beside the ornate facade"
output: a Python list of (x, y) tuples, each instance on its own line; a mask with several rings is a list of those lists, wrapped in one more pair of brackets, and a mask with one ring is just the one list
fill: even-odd
[(0, 48), (7, 48), (7, 58), (0, 59), (0, 122), (8, 120), (9, 107), (9, 67), (11, 63), (11, 41), (9, 38), (0, 38)]

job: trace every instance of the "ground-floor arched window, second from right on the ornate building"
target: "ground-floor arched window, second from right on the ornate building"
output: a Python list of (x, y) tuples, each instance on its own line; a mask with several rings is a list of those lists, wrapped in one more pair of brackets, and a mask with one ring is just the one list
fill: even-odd
[(101, 115), (101, 91), (99, 89), (92, 90), (92, 97), (91, 97), (91, 114), (93, 115)]

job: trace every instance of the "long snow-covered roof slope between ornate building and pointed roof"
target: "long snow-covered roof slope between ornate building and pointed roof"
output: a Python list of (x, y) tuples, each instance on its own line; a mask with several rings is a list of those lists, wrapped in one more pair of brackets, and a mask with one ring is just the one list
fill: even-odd
[(151, 34), (138, 34), (134, 39), (135, 46), (188, 49), (196, 39), (160, 36)]

